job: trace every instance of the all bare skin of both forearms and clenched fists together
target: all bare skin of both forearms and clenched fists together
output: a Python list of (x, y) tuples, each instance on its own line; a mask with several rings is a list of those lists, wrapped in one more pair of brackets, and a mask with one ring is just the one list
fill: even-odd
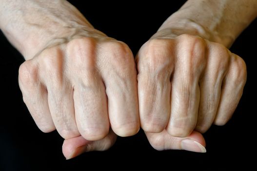
[(201, 133), (224, 125), (242, 95), (246, 66), (227, 48), (256, 8), (256, 0), (188, 0), (140, 48), (137, 66), (125, 43), (65, 0), (0, 0), (0, 28), (26, 60), (26, 106), (43, 132), (65, 139), (67, 159), (107, 150), (140, 125), (157, 150), (205, 152)]

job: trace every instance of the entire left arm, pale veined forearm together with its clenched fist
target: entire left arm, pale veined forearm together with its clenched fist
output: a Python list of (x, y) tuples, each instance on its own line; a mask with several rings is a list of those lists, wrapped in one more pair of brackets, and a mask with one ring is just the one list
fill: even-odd
[(0, 28), (26, 59), (19, 71), (26, 106), (42, 131), (66, 139), (67, 158), (81, 143), (106, 150), (113, 131), (138, 131), (136, 68), (125, 43), (93, 28), (66, 0), (0, 0)]

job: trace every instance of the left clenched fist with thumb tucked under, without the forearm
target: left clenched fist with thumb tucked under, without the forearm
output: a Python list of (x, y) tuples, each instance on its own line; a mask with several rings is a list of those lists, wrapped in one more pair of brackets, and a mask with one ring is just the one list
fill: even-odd
[(64, 143), (69, 158), (78, 153), (69, 149), (81, 143), (91, 147), (87, 150), (106, 150), (114, 133), (136, 134), (139, 116), (136, 67), (128, 46), (97, 33), (66, 40), (21, 64), (19, 84), (37, 126), (73, 138)]

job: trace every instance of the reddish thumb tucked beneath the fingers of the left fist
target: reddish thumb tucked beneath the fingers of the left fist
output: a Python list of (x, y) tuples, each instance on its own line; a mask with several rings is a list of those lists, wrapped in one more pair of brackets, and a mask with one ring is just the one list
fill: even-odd
[(110, 130), (106, 137), (98, 141), (88, 141), (82, 136), (66, 139), (62, 145), (62, 153), (66, 159), (71, 159), (84, 152), (108, 150), (114, 145), (116, 138), (117, 135)]

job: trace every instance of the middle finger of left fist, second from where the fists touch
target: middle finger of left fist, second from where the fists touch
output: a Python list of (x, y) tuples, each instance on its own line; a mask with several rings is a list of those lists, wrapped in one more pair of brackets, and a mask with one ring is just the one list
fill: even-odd
[(96, 42), (86, 38), (69, 43), (72, 64), (76, 123), (87, 140), (104, 138), (109, 132), (105, 86), (97, 69)]

